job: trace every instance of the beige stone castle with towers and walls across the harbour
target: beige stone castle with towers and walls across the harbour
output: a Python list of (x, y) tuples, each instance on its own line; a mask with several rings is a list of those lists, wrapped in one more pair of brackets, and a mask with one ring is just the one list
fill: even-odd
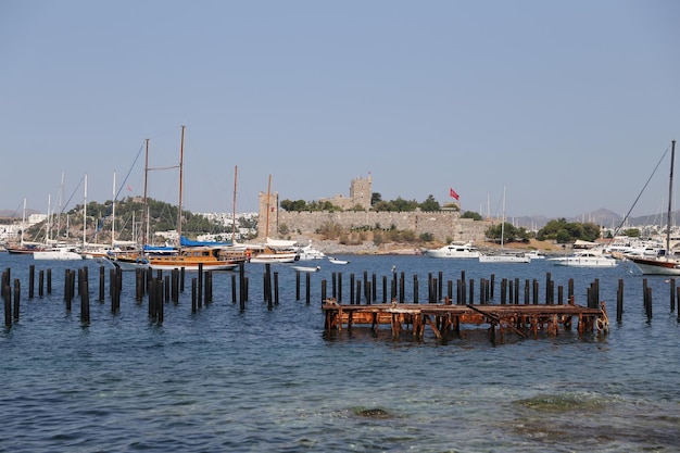
[[(332, 223), (343, 229), (391, 229), (412, 230), (416, 236), (430, 234), (441, 242), (450, 240), (476, 241), (484, 240), (484, 231), (491, 225), (488, 221), (473, 221), (461, 218), (459, 210), (442, 210), (437, 212), (375, 212), (370, 211), (372, 177), (357, 177), (350, 184), (350, 197), (336, 194), (330, 199), (333, 205), (342, 207), (342, 212), (306, 211), (287, 212), (278, 209), (278, 192), (260, 192), (260, 219), (257, 222), (257, 238), (282, 238), (292, 235), (311, 236), (324, 224)], [(279, 234), (280, 227), (286, 226), (289, 234), (284, 238)], [(268, 230), (267, 230), (268, 227)]]

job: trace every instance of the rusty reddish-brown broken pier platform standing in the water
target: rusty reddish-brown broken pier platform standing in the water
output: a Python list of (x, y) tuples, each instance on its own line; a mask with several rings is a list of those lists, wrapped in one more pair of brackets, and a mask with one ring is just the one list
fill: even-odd
[(327, 332), (360, 325), (370, 326), (374, 331), (378, 331), (381, 325), (389, 325), (393, 337), (411, 332), (416, 339), (423, 339), (426, 325), (438, 339), (459, 334), (464, 324), (488, 325), (492, 338), (495, 338), (496, 331), (501, 338), (508, 331), (520, 337), (538, 336), (539, 332), (557, 336), (561, 328), (570, 330), (575, 318), (579, 334), (606, 334), (609, 327), (604, 302), (600, 309), (591, 309), (572, 303), (475, 305), (451, 304), (448, 301), (427, 304), (393, 301), (389, 304), (347, 305), (329, 299), (322, 309)]

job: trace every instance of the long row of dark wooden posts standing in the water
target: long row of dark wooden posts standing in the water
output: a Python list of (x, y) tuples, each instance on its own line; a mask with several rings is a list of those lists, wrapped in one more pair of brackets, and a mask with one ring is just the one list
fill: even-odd
[[(34, 298), (35, 290), (35, 265), (29, 268), (28, 275), (28, 299)], [(111, 268), (109, 270), (109, 293), (111, 298), (111, 311), (117, 313), (121, 310), (121, 291), (123, 288), (123, 273), (118, 267)], [(76, 288), (76, 275), (77, 275), (77, 288)], [(305, 276), (304, 287), (306, 290), (305, 300), (306, 303), (311, 302), (311, 274), (300, 273), (295, 274), (295, 300), (301, 300), (301, 276)], [(161, 270), (154, 270), (151, 268), (137, 269), (136, 276), (136, 301), (141, 303), (143, 297), (148, 295), (149, 300), (149, 317), (163, 323), (163, 303), (174, 302), (179, 303), (179, 293), (185, 291), (185, 269), (175, 268), (169, 272), (169, 275), (163, 275)], [(244, 265), (241, 264), (238, 273), (230, 273), (231, 277), (231, 301), (234, 303), (237, 300), (240, 302), (240, 309), (245, 310), (245, 301), (249, 300), (248, 288), (249, 279), (245, 276)], [(238, 285), (237, 285), (238, 278)], [(328, 297), (328, 286), (326, 280), (322, 280), (322, 303), (326, 300), (333, 300), (337, 303), (342, 303), (343, 300), (343, 275), (342, 273), (333, 273), (331, 278), (331, 294)], [(675, 311), (676, 301), (679, 301), (680, 306), (680, 287), (676, 287), (676, 280), (671, 279), (670, 291), (670, 310)], [(11, 269), (8, 268), (2, 273), (2, 299), (4, 301), (4, 319), (5, 326), (12, 325), (12, 319), (16, 320), (20, 316), (21, 305), (21, 282), (16, 278), (14, 279), (14, 286), (11, 286)], [(52, 292), (52, 272), (51, 269), (39, 270), (38, 274), (38, 294), (42, 297), (45, 294), (46, 284), (47, 292)], [(444, 293), (444, 278), (443, 273), (439, 272), (439, 275), (432, 273), (428, 274), (427, 281), (427, 303), (439, 303), (444, 301), (445, 303), (456, 304), (474, 304), (475, 303), (475, 290), (476, 282), (474, 279), (466, 279), (465, 270), (461, 273), (461, 277), (455, 281), (455, 294), (454, 294), (454, 281), (448, 280), (445, 282)], [(413, 303), (419, 303), (418, 299), (418, 276), (413, 276)], [(388, 276), (381, 277), (381, 297), (382, 303), (390, 302), (405, 303), (406, 294), (406, 276), (405, 273), (392, 272), (391, 278)], [(522, 288), (524, 287), (524, 291)], [(239, 289), (237, 291), (237, 288)], [(489, 279), (479, 279), (479, 304), (488, 304), (494, 299), (495, 288), (495, 275), (491, 275)], [(555, 289), (557, 292), (557, 299), (555, 300)], [(265, 264), (265, 272), (263, 274), (263, 292), (264, 301), (268, 307), (279, 303), (279, 279), (278, 273), (272, 272), (270, 265)], [(378, 298), (378, 276), (374, 273), (369, 276), (367, 270), (364, 270), (363, 278), (356, 278), (354, 274), (350, 274), (349, 282), (349, 303), (354, 304), (372, 304), (380, 303)], [(539, 304), (539, 281), (538, 279), (526, 279), (522, 282), (519, 278), (501, 280), (501, 294), (500, 304)], [(72, 310), (72, 301), (75, 295), (80, 297), (80, 319), (84, 323), (89, 323), (89, 277), (88, 267), (85, 266), (80, 269), (73, 270), (66, 269), (64, 276), (64, 301), (66, 303), (66, 310)], [(105, 295), (105, 267), (99, 267), (99, 302), (104, 301)], [(389, 299), (388, 299), (389, 297)], [(575, 303), (574, 292), (574, 279), (569, 279), (567, 286), (566, 301), (567, 303)], [(12, 300), (14, 303), (12, 304)], [(565, 303), (564, 287), (557, 286), (552, 279), (551, 273), (545, 275), (545, 294), (544, 303), (546, 305), (558, 305)], [(191, 279), (191, 312), (197, 313), (203, 304), (207, 305), (213, 302), (213, 272), (203, 272), (199, 268), (196, 277)], [(600, 302), (600, 281), (595, 279), (588, 288), (587, 304), (588, 307), (596, 309)], [(643, 305), (646, 316), (652, 318), (652, 288), (647, 285), (647, 279), (643, 279)], [(624, 312), (624, 280), (618, 280), (617, 289), (617, 311), (616, 319), (621, 320)], [(678, 320), (680, 322), (680, 310), (678, 311)]]

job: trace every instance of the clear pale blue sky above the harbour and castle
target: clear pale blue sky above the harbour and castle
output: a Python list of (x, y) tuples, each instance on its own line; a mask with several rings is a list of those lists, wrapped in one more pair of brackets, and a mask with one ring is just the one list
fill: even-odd
[[(312, 201), (370, 172), (383, 200), (624, 215), (680, 139), (679, 24), (676, 0), (0, 0), (0, 210), (73, 207), (86, 173), (88, 201), (114, 171), (141, 194), (144, 139), (176, 165), (184, 124), (193, 212), (231, 212), (238, 166), (238, 212), (269, 175)], [(668, 165), (633, 214), (665, 211)]]

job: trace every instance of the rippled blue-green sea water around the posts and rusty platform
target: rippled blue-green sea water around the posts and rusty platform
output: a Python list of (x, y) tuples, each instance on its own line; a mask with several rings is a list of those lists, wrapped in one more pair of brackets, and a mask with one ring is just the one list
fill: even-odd
[[(250, 300), (231, 302), (231, 274), (214, 275), (214, 302), (191, 313), (190, 291), (165, 304), (165, 319), (148, 318), (134, 300), (134, 274), (124, 274), (121, 312), (99, 303), (98, 263), (37, 263), (0, 254), (1, 268), (22, 281), (20, 320), (0, 332), (0, 452), (670, 452), (680, 444), (680, 327), (670, 312), (669, 281), (647, 277), (654, 316), (642, 305), (643, 276), (622, 264), (575, 269), (531, 264), (479, 264), (425, 256), (344, 256), (310, 275), (311, 303), (295, 300), (295, 273), (273, 266), (279, 304), (267, 309), (264, 265), (249, 265)], [(51, 267), (52, 293), (28, 300), (28, 266)], [(88, 265), (90, 323), (79, 300), (67, 313), (63, 274)], [(438, 341), (392, 339), (354, 328), (324, 335), (322, 280), (342, 272), (392, 266), (413, 275), (419, 301), (427, 277), (446, 280), (537, 279), (566, 287), (576, 302), (600, 279), (607, 301), (606, 337), (576, 331), (492, 343), (484, 328)], [(37, 275), (37, 273), (36, 273)], [(190, 274), (188, 274), (189, 276)], [(106, 273), (106, 278), (109, 274)], [(625, 281), (625, 313), (616, 317), (616, 289)], [(680, 280), (679, 280), (680, 282)], [(445, 287), (445, 286), (444, 286)], [(187, 288), (190, 288), (187, 282)], [(524, 286), (522, 286), (524, 289)], [(108, 291), (108, 282), (106, 282)], [(478, 286), (476, 288), (478, 298)], [(382, 287), (379, 285), (378, 299)]]

